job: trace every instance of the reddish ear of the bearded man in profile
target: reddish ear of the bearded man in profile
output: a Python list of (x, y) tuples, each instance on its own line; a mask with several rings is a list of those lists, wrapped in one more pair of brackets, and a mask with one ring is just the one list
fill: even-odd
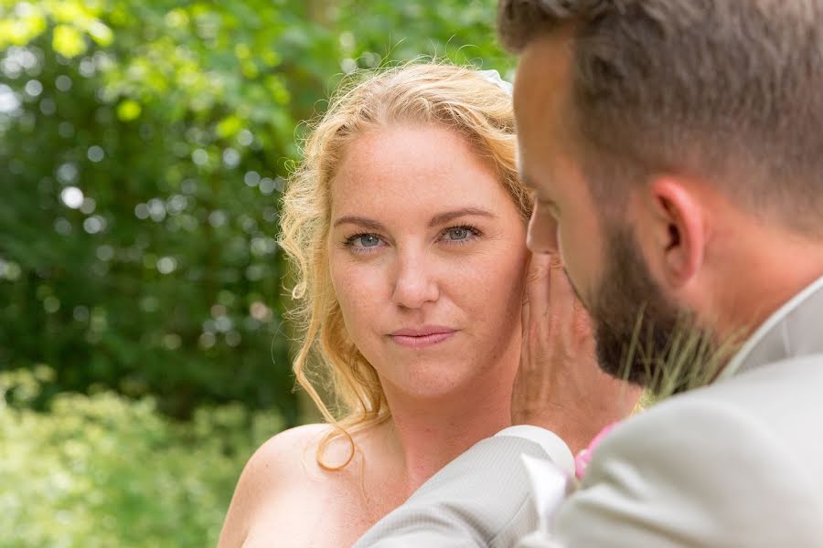
[(657, 268), (669, 287), (680, 289), (702, 266), (706, 245), (704, 211), (694, 186), (677, 178), (654, 180), (648, 193)]

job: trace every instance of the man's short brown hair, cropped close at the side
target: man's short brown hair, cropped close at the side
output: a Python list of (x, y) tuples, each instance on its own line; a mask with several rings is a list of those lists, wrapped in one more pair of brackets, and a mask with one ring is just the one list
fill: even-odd
[(569, 25), (569, 115), (595, 195), (615, 195), (626, 174), (693, 174), (821, 232), (823, 0), (499, 5), (516, 52)]

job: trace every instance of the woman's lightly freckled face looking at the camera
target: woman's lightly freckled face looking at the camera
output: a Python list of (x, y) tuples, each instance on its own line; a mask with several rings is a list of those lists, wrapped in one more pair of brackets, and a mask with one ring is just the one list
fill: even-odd
[[(387, 390), (443, 395), (501, 362), (517, 366), (526, 227), (460, 136), (422, 126), (362, 135), (331, 195), (333, 285), (347, 332)], [(451, 212), (466, 213), (432, 225)], [(352, 217), (368, 223), (335, 226)], [(391, 336), (432, 327), (454, 334), (414, 347)]]

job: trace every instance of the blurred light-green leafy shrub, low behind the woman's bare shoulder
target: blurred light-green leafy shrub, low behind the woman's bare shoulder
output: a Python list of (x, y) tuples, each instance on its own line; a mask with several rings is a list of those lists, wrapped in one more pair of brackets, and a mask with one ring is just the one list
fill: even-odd
[(176, 423), (112, 392), (27, 408), (52, 375), (0, 374), (4, 547), (213, 546), (244, 462), (283, 427), (237, 405)]

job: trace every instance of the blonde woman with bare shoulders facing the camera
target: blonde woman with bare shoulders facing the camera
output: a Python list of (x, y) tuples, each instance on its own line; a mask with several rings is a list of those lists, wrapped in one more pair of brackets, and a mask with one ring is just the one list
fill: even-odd
[(515, 155), (511, 98), (486, 73), (413, 64), (338, 93), (281, 238), (303, 328), (294, 372), (327, 424), (251, 457), (220, 547), (350, 545), (509, 425), (530, 209)]

